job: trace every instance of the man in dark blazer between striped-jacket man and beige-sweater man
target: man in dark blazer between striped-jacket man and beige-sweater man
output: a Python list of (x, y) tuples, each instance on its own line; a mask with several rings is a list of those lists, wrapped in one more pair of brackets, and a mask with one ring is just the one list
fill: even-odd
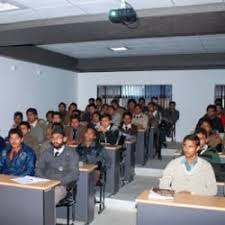
[(123, 121), (119, 127), (120, 132), (126, 136), (127, 138), (131, 138), (131, 136), (137, 135), (137, 126), (132, 124), (132, 114), (129, 112), (125, 112), (123, 114)]

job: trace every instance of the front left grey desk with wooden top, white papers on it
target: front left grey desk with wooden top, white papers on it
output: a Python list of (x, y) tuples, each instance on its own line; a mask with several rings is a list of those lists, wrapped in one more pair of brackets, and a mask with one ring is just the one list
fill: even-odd
[(59, 181), (18, 184), (0, 175), (0, 224), (55, 225), (54, 188)]

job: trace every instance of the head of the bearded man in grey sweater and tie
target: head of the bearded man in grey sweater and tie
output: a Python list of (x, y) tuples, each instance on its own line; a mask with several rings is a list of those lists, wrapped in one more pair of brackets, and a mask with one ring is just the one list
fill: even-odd
[(52, 124), (51, 144), (55, 149), (60, 149), (66, 142), (64, 127), (61, 123)]

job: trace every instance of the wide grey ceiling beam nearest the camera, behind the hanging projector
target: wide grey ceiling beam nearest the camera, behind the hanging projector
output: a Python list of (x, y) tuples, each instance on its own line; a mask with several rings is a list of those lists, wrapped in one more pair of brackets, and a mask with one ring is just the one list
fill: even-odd
[(225, 33), (225, 4), (149, 9), (138, 15), (137, 29), (112, 24), (106, 14), (1, 25), (0, 46)]

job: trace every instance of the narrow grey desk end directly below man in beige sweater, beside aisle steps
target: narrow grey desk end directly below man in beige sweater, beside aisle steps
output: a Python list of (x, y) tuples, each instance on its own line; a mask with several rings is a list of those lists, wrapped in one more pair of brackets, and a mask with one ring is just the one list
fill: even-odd
[(146, 162), (146, 132), (147, 130), (139, 129), (137, 133), (135, 164), (144, 165)]

